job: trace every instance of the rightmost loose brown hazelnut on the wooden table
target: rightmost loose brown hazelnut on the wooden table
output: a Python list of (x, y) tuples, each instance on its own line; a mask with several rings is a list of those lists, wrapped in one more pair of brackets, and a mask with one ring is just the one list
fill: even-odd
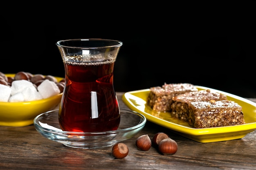
[(159, 145), (158, 150), (163, 155), (175, 154), (177, 152), (178, 145), (175, 140), (170, 137), (163, 139)]

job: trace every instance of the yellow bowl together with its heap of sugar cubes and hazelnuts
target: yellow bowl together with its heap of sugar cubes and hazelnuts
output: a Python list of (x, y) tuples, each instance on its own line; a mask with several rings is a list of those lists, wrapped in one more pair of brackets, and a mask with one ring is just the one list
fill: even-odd
[(58, 108), (64, 78), (0, 72), (0, 126), (28, 126), (36, 116)]

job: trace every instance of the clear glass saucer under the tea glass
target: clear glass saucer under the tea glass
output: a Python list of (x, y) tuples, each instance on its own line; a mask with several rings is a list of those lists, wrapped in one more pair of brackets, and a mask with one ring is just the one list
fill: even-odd
[(135, 111), (120, 109), (121, 121), (115, 131), (67, 132), (58, 124), (58, 110), (47, 111), (34, 119), (34, 126), (43, 137), (72, 148), (96, 149), (114, 144), (135, 136), (146, 124), (146, 118)]

